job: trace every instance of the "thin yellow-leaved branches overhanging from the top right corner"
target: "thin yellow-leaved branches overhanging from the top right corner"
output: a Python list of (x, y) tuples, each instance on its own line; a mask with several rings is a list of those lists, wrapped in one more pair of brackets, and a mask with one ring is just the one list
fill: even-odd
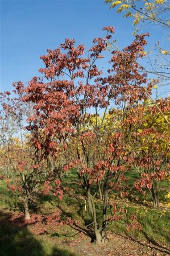
[[(168, 11), (170, 7), (168, 1), (105, 0), (105, 3), (109, 3), (110, 8), (118, 7), (117, 13), (125, 13), (123, 17), (133, 19), (132, 25), (135, 26), (133, 34), (138, 32), (140, 27), (143, 28), (150, 23), (154, 23), (154, 25), (156, 25), (154, 26), (154, 29), (161, 28), (163, 37), (168, 40), (169, 34), (167, 30), (170, 27), (170, 21), (168, 20)], [(155, 47), (152, 47), (151, 51), (146, 52), (146, 55), (148, 55), (149, 67), (143, 67), (143, 71), (150, 73), (151, 77), (154, 75), (156, 79), (159, 79), (159, 82), (157, 82), (159, 85), (169, 85), (169, 54), (169, 50), (161, 47), (161, 42), (159, 41), (155, 42)]]

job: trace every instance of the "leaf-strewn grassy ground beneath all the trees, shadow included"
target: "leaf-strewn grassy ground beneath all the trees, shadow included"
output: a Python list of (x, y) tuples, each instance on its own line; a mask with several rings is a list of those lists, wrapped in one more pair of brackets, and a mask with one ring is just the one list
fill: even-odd
[[(129, 175), (132, 181), (135, 174)], [(74, 225), (59, 225), (45, 221), (45, 216), (56, 209), (62, 210), (63, 218), (71, 217), (88, 223), (85, 219), (84, 200), (81, 193), (69, 193), (63, 200), (53, 195), (39, 195), (36, 209), (31, 210), (31, 219), (15, 208), (9, 198), (5, 181), (0, 181), (0, 255), (2, 256), (49, 256), (49, 255), (169, 255), (170, 216), (165, 195), (169, 181), (160, 184), (160, 209), (152, 207), (151, 197), (139, 201), (117, 198), (115, 201), (129, 214), (136, 214), (141, 230), (127, 230), (128, 218), (113, 221), (107, 228), (107, 241), (103, 245), (91, 243), (84, 230)]]

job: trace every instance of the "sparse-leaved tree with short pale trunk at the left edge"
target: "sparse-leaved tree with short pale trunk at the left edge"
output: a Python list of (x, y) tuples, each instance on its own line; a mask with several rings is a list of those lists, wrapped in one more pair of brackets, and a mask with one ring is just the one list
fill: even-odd
[(28, 134), (23, 130), (26, 118), (31, 113), (22, 100), (24, 86), (20, 82), (14, 86), (18, 97), (12, 98), (10, 92), (1, 93), (0, 161), (10, 197), (15, 197), (16, 204), (22, 204), (25, 219), (30, 220), (30, 204), (35, 204), (44, 171), (37, 161), (31, 141), (28, 141)]

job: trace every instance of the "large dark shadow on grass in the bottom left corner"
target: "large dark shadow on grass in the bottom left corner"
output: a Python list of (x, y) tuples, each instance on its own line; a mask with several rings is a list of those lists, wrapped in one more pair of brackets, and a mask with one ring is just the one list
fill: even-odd
[[(73, 256), (68, 250), (52, 246), (45, 252), (42, 243), (29, 232), (26, 226), (16, 226), (9, 222), (10, 213), (0, 211), (0, 256)], [(48, 246), (48, 245), (45, 245)], [(76, 256), (76, 255), (75, 255)]]

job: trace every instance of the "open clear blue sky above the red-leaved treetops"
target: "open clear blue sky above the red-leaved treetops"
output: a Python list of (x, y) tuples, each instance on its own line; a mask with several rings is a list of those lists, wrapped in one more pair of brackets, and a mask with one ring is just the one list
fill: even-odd
[[(1, 80), (0, 90), (11, 90), (12, 82), (26, 83), (43, 67), (39, 59), (65, 38), (88, 48), (102, 36), (103, 26), (115, 27), (119, 48), (132, 42), (132, 20), (109, 9), (104, 0), (0, 0)], [(145, 29), (147, 30), (147, 29)], [(150, 28), (149, 46), (165, 41), (164, 33)], [(166, 43), (165, 43), (166, 44)]]

